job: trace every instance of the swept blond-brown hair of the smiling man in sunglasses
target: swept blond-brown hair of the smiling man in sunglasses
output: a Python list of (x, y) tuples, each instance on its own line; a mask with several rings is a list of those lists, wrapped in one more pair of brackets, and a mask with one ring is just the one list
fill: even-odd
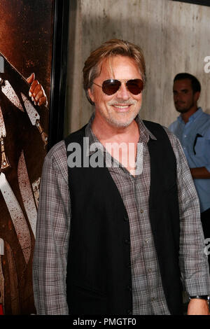
[(99, 46), (96, 50), (90, 53), (90, 56), (85, 61), (83, 68), (83, 88), (90, 104), (94, 104), (88, 94), (88, 89), (92, 87), (93, 80), (99, 76), (102, 69), (102, 62), (104, 59), (121, 55), (134, 59), (139, 67), (143, 83), (146, 83), (146, 66), (144, 62), (144, 55), (141, 48), (129, 41), (111, 39)]

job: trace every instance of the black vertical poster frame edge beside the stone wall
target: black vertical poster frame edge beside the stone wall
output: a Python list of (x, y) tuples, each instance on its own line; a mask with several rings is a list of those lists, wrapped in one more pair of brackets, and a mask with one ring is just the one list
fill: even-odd
[(64, 135), (69, 0), (54, 0), (48, 150)]

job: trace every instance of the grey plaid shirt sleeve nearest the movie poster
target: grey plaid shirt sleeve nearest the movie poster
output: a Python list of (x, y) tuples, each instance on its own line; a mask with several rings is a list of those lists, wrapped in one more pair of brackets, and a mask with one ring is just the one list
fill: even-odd
[(41, 176), (33, 263), (37, 314), (69, 314), (66, 259), (70, 212), (66, 149), (62, 141), (45, 157)]

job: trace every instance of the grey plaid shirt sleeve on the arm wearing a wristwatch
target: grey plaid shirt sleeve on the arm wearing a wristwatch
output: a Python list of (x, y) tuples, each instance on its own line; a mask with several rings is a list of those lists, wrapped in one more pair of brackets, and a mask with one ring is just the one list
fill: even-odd
[(189, 295), (209, 295), (210, 278), (205, 246), (200, 202), (183, 149), (174, 134), (167, 131), (177, 163), (177, 187), (180, 212), (179, 264), (186, 292)]

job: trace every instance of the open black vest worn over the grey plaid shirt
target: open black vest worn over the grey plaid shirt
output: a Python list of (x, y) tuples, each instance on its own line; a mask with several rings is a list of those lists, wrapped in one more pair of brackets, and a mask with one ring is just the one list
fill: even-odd
[[(176, 158), (165, 130), (144, 121), (157, 140), (151, 157), (149, 212), (167, 305), (182, 314)], [(85, 127), (65, 139), (80, 144)], [(67, 157), (71, 151), (67, 151)], [(91, 155), (90, 155), (91, 156)], [(83, 161), (82, 161), (83, 162)], [(132, 314), (130, 225), (109, 169), (68, 167), (71, 230), (66, 294), (70, 314)]]

